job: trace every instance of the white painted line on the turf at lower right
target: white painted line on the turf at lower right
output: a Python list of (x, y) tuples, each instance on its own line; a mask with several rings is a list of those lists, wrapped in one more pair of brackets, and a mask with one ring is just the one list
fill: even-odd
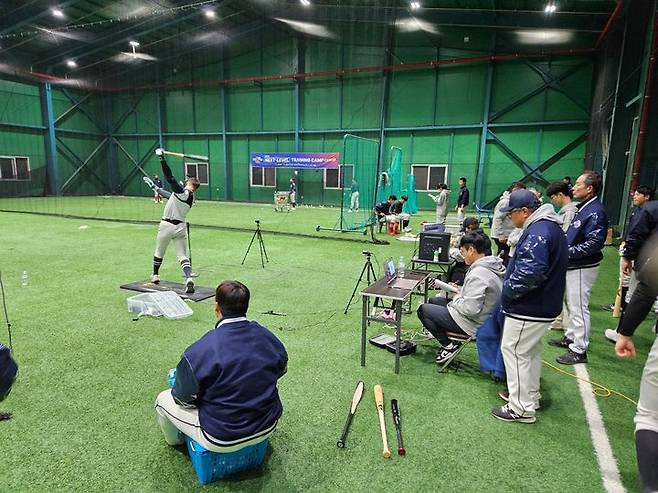
[[(580, 364), (574, 365), (574, 367), (576, 375), (580, 379), (590, 381), (589, 373), (587, 373), (587, 365)], [(599, 411), (599, 405), (596, 403), (596, 397), (592, 392), (592, 386), (583, 380), (578, 380), (578, 390), (580, 390), (580, 397), (583, 399), (583, 405), (585, 406), (585, 415), (587, 416), (587, 424), (592, 435), (596, 460), (601, 470), (603, 487), (608, 493), (625, 492), (626, 489), (621, 482), (619, 467), (617, 467), (617, 461), (612, 453), (610, 441), (605, 432), (605, 426), (603, 426), (601, 411)]]

